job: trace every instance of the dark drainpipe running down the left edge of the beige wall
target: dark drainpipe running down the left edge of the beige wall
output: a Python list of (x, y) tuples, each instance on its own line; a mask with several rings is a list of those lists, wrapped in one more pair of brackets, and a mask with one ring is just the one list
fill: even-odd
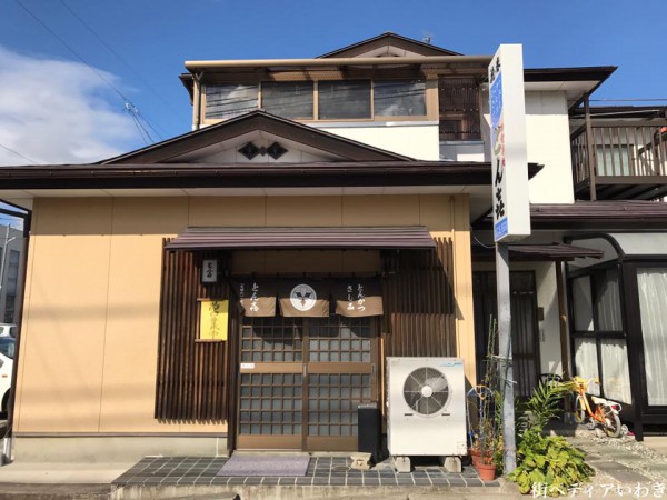
[[(3, 200), (0, 200), (7, 203)], [(11, 204), (11, 203), (8, 203)], [(16, 207), (16, 206), (14, 206)], [(20, 207), (19, 207), (20, 208)], [(21, 209), (26, 210), (26, 209)], [(21, 267), (19, 268), (19, 282), (17, 283), (17, 307), (14, 309), (14, 322), (17, 323), (17, 339), (14, 349), (13, 367), (11, 370), (11, 389), (9, 391), (9, 401), (7, 403), (7, 436), (4, 437), (4, 447), (0, 454), (0, 466), (12, 460), (13, 452), (13, 421), (14, 421), (14, 403), (17, 399), (17, 378), (19, 371), (19, 359), (21, 356), (21, 332), (23, 330), (23, 303), (26, 301), (26, 278), (28, 274), (28, 250), (30, 243), (30, 226), (32, 223), (32, 211), (26, 210), (28, 213), (17, 213), (17, 217), (23, 219), (23, 249), (21, 252)]]

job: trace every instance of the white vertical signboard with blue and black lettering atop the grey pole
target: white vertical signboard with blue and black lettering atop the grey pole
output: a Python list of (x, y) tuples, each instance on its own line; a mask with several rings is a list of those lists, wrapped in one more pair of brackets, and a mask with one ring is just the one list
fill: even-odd
[(526, 99), (520, 44), (502, 44), (489, 66), (491, 167), (494, 171), (494, 239), (515, 241), (530, 236)]

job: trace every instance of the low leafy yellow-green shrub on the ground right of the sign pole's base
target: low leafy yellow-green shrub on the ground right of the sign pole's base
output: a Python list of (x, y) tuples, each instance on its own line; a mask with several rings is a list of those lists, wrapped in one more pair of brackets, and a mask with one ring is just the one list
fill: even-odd
[(565, 438), (542, 436), (541, 429), (526, 430), (517, 449), (518, 467), (507, 479), (518, 484), (521, 493), (528, 493), (535, 484), (542, 487), (550, 497), (566, 494), (568, 488), (579, 484), (595, 473), (586, 464), (586, 453), (577, 450)]

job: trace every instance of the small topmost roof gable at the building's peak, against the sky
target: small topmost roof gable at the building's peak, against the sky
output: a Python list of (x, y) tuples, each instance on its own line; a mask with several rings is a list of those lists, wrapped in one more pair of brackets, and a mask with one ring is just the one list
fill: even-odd
[(387, 58), (387, 57), (419, 57), (419, 56), (461, 56), (440, 47), (431, 46), (411, 38), (395, 33), (384, 33), (369, 38), (342, 49), (319, 56), (326, 58)]

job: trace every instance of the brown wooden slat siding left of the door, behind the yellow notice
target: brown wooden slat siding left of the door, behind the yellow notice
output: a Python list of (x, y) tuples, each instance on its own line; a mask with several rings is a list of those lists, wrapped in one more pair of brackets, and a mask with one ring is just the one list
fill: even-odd
[[(163, 240), (163, 244), (169, 243)], [(215, 252), (162, 253), (160, 327), (155, 417), (177, 421), (222, 421), (229, 408), (226, 380), (229, 342), (196, 342), (199, 333), (197, 299), (229, 299), (225, 281), (200, 283), (201, 261), (218, 259), (220, 269), (228, 258)], [(230, 307), (229, 338), (236, 337), (238, 311)], [(232, 386), (229, 386), (232, 387)]]

